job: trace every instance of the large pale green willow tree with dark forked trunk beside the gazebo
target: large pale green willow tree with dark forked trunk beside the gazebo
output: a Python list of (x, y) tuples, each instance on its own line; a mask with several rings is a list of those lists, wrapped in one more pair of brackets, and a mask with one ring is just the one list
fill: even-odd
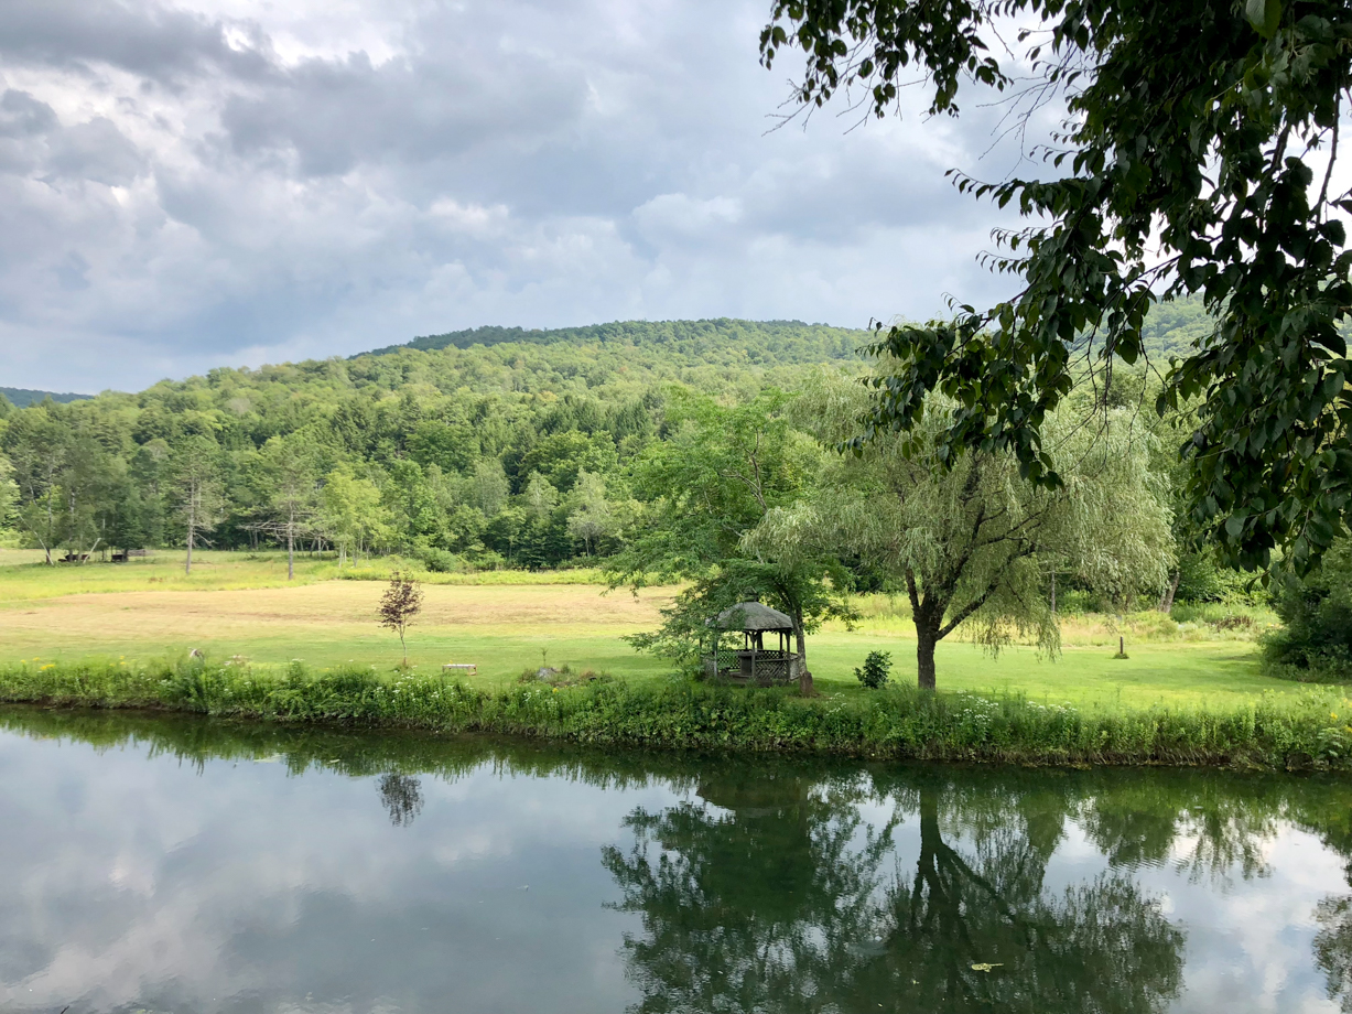
[[(861, 385), (827, 376), (798, 410), (834, 443), (867, 400)], [(833, 545), (903, 584), (922, 688), (936, 684), (936, 645), (963, 623), (991, 646), (1018, 630), (1055, 649), (1049, 561), (1126, 600), (1164, 587), (1174, 549), (1167, 489), (1138, 419), (1117, 410), (1090, 429), (1057, 416), (1045, 431), (1056, 487), (1025, 481), (1007, 452), (948, 460), (941, 414), (927, 414), (909, 434), (883, 433), (831, 460), (810, 498), (771, 511), (749, 541)]]

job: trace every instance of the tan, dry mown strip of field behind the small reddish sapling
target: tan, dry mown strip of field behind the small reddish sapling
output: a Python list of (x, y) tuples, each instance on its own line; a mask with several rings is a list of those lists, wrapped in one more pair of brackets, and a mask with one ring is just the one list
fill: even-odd
[[(316, 667), (392, 665), (399, 641), (376, 622), (383, 591), (375, 581), (324, 581), (11, 600), (0, 604), (0, 662), (157, 658), (199, 648), (264, 664), (301, 658)], [(621, 637), (652, 629), (668, 594), (646, 591), (635, 599), (602, 592), (594, 585), (426, 585), (423, 612), (408, 631), (410, 661), (420, 668), (476, 662), (492, 680), (545, 658), (598, 669), (661, 668), (657, 660), (635, 657)]]

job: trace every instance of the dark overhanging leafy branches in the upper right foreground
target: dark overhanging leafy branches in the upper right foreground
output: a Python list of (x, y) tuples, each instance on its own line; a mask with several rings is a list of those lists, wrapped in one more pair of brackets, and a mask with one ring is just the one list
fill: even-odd
[(1048, 429), (1078, 373), (1110, 381), (1115, 360), (1141, 357), (1156, 293), (1197, 293), (1215, 324), (1160, 396), (1161, 410), (1201, 399), (1184, 448), (1194, 522), (1237, 565), (1268, 566), (1282, 548), (1307, 568), (1352, 508), (1338, 220), (1352, 201), (1330, 185), (1349, 43), (1340, 0), (776, 0), (763, 61), (806, 54), (803, 108), (860, 89), (883, 116), (923, 77), (932, 114), (957, 115), (973, 84), (1014, 116), (1049, 100), (1068, 114), (1041, 151), (1048, 177), (957, 176), (1045, 223), (1002, 234), (991, 258), (1025, 285), (880, 334), (898, 362), (856, 439), (915, 429), (942, 393), (944, 461), (1007, 452), (1056, 488)]

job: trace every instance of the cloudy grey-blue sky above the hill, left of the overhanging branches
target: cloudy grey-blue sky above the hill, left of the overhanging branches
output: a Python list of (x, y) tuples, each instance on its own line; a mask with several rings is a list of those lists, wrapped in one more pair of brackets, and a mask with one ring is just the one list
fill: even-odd
[(769, 130), (768, 7), (0, 0), (0, 384), (998, 295), (996, 111)]

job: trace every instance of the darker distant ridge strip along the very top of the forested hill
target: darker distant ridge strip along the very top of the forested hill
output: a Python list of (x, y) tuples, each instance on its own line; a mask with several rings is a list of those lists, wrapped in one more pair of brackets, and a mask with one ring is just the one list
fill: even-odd
[(857, 360), (869, 333), (859, 329), (806, 324), (802, 320), (615, 320), (585, 327), (549, 330), (476, 327), (414, 338), (370, 354), (399, 349), (469, 349), (475, 345), (583, 345), (602, 347), (656, 347), (671, 354), (717, 364), (794, 365)]

